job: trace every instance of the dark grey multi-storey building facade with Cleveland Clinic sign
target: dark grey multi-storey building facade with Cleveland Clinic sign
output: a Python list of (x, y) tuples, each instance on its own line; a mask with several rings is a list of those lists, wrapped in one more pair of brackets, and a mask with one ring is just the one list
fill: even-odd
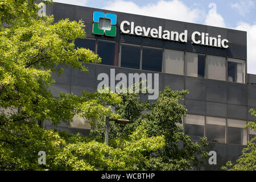
[[(184, 133), (195, 141), (207, 137), (207, 151), (217, 153), (217, 164), (207, 160), (204, 169), (234, 162), (254, 137), (254, 131), (243, 128), (254, 121), (249, 110), (256, 109), (256, 75), (247, 74), (246, 32), (62, 3), (47, 6), (46, 13), (55, 21), (82, 19), (86, 39), (76, 40), (76, 46), (102, 57), (101, 64), (88, 64), (88, 73), (65, 68), (61, 77), (54, 75), (53, 96), (94, 92), (97, 76), (110, 76), (110, 69), (126, 75), (159, 73), (159, 91), (167, 85), (189, 90), (181, 102), (188, 109)], [(57, 129), (88, 135), (90, 126), (75, 118), (71, 126), (61, 123)]]

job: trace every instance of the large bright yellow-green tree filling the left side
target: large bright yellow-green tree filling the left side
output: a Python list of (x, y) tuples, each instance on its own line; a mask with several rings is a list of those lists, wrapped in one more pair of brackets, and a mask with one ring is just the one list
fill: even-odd
[[(53, 16), (38, 16), (34, 2), (0, 0), (0, 170), (145, 168), (146, 153), (160, 150), (164, 137), (148, 137), (143, 127), (114, 146), (40, 127), (43, 121), (70, 123), (75, 115), (118, 118), (110, 106), (122, 99), (98, 92), (52, 96), (52, 73), (63, 72), (57, 65), (86, 72), (86, 63), (101, 59), (89, 49), (75, 48), (75, 39), (86, 37), (84, 22), (53, 23)], [(46, 165), (38, 164), (39, 151), (46, 152)]]

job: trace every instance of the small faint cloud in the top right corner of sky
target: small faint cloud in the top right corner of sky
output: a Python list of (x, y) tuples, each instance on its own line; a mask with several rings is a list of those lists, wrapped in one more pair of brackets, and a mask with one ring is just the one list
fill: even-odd
[(254, 6), (255, 4), (251, 0), (240, 1), (231, 5), (232, 9), (237, 10), (242, 16), (249, 13), (250, 9), (254, 8)]

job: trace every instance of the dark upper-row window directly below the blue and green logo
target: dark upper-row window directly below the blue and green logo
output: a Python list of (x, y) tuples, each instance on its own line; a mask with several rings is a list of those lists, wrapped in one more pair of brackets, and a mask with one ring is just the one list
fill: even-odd
[(101, 64), (118, 66), (118, 43), (98, 40), (97, 54), (101, 57)]

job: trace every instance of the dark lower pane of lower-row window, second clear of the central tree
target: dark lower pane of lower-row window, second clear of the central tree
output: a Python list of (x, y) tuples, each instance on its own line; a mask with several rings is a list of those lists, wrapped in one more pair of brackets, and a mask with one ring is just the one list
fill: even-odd
[(206, 137), (208, 142), (225, 143), (225, 126), (207, 124)]

